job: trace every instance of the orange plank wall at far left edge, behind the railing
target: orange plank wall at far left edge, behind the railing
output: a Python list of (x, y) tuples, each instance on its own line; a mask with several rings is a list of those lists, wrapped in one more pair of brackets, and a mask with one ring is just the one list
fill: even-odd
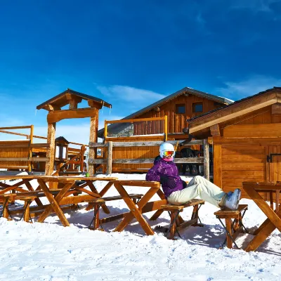
[[(30, 141), (0, 141), (0, 158), (25, 158), (29, 157)], [(20, 145), (21, 147), (16, 147)], [(24, 147), (22, 147), (24, 146)], [(27, 169), (26, 161), (0, 161), (1, 169)]]

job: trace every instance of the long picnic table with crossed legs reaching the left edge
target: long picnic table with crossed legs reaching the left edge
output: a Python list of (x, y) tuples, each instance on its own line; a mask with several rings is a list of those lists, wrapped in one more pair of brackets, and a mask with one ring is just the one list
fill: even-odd
[[(50, 204), (43, 205), (39, 198), (37, 198), (37, 204), (41, 209), (44, 209), (43, 213), (39, 216), (38, 222), (44, 222), (46, 217), (51, 214), (52, 211), (55, 212), (55, 214), (58, 215), (58, 218), (60, 218), (60, 221), (62, 222), (63, 226), (70, 226), (70, 223), (67, 221), (67, 218), (65, 218), (65, 215), (63, 214), (63, 211), (60, 207), (60, 205), (64, 204), (76, 204), (79, 202), (84, 202), (85, 200), (91, 199), (93, 197), (99, 198), (104, 195), (104, 193), (112, 186), (113, 183), (107, 183), (105, 185), (105, 188), (103, 188), (103, 192), (98, 192), (96, 188), (93, 185), (94, 181), (112, 181), (117, 178), (111, 178), (111, 177), (104, 177), (104, 178), (98, 178), (98, 177), (74, 177), (74, 176), (34, 176), (34, 175), (28, 175), (28, 176), (0, 176), (1, 180), (21, 180), (18, 183), (15, 183), (13, 185), (8, 185), (7, 183), (0, 183), (0, 186), (4, 189), (0, 191), (1, 194), (6, 194), (9, 191), (18, 191), (20, 193), (26, 192), (27, 190), (24, 190), (23, 188), (20, 188), (20, 185), (26, 185), (27, 189), (31, 192), (35, 192), (38, 190), (41, 190), (44, 192), (44, 195), (48, 199), (48, 202)], [(32, 185), (30, 181), (37, 180), (39, 183), (39, 187), (34, 190), (32, 188)], [(75, 185), (76, 181), (86, 181), (83, 185)], [(61, 183), (63, 188), (60, 189), (57, 195), (53, 196), (52, 192), (49, 190), (46, 183), (48, 182), (56, 182)], [(86, 190), (86, 186), (89, 186), (90, 190)], [(72, 190), (70, 190), (72, 188)], [(77, 191), (86, 192), (87, 195), (81, 195), (81, 196), (74, 196), (70, 197), (69, 195), (74, 194)], [(19, 193), (19, 194), (20, 194)], [(102, 195), (101, 195), (102, 194)], [(105, 206), (105, 212), (109, 212), (107, 207)]]

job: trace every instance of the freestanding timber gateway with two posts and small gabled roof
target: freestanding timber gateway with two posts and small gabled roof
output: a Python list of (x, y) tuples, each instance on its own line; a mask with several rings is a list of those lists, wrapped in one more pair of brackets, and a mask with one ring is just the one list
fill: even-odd
[[(82, 100), (88, 102), (89, 107), (77, 108), (78, 103)], [(62, 107), (69, 105), (67, 110), (62, 110)], [(98, 141), (98, 110), (105, 107), (112, 107), (110, 103), (106, 103), (100, 98), (86, 95), (84, 93), (79, 93), (71, 89), (67, 89), (63, 93), (41, 103), (37, 106), (37, 110), (44, 109), (48, 111), (47, 122), (48, 122), (48, 136), (47, 142), (50, 143), (50, 148), (47, 150), (47, 157), (50, 158), (49, 162), (46, 163), (46, 175), (51, 175), (53, 173), (54, 166), (54, 155), (55, 155), (55, 124), (63, 119), (73, 119), (73, 118), (85, 118), (90, 117), (90, 142)], [(94, 159), (96, 157), (96, 150), (91, 150), (89, 152), (89, 159)], [(89, 167), (89, 173), (93, 175), (94, 166)]]

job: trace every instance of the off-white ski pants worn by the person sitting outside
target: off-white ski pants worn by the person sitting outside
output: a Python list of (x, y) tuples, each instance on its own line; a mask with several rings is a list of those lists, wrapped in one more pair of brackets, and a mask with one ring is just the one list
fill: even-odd
[(202, 200), (218, 207), (218, 203), (224, 194), (225, 192), (221, 188), (207, 181), (206, 178), (195, 176), (186, 188), (171, 193), (168, 197), (168, 202), (174, 205), (181, 205), (199, 196)]

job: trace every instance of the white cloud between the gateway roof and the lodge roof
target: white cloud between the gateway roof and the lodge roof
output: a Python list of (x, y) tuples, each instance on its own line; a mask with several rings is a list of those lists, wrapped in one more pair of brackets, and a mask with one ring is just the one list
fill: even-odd
[(147, 102), (152, 100), (152, 103), (156, 100), (161, 100), (165, 96), (161, 93), (155, 93), (154, 91), (137, 89), (130, 86), (97, 86), (98, 91), (105, 96), (115, 97), (126, 101), (134, 102)]

